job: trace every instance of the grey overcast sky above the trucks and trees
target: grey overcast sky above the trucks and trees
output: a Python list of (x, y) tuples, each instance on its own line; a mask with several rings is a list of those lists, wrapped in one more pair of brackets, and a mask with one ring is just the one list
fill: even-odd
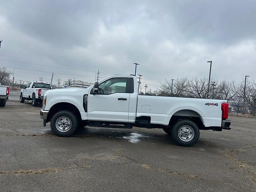
[[(15, 80), (94, 82), (143, 75), (142, 85), (180, 77), (256, 76), (255, 0), (1, 0), (0, 65)], [(13, 70), (8, 68), (8, 70)], [(69, 74), (69, 75), (67, 75)]]

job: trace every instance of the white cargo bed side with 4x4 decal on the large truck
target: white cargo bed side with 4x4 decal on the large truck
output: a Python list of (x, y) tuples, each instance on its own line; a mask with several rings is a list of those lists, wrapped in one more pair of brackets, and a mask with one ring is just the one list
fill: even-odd
[(152, 124), (168, 125), (173, 115), (198, 116), (204, 126), (221, 126), (226, 100), (138, 95), (136, 117), (150, 116)]

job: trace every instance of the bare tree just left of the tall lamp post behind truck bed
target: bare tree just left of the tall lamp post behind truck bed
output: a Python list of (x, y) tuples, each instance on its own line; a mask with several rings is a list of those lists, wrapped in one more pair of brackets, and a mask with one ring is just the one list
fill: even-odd
[[(211, 93), (211, 88), (209, 92)], [(197, 77), (191, 78), (188, 81), (188, 94), (191, 97), (195, 98), (207, 98), (208, 93), (208, 79), (207, 78), (200, 78)], [(209, 94), (209, 98), (211, 95)]]

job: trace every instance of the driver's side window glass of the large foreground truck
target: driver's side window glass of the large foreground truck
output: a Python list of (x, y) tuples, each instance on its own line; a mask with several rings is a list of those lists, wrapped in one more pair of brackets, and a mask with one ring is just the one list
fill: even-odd
[(104, 95), (113, 93), (126, 93), (127, 78), (112, 78), (99, 84), (100, 92)]

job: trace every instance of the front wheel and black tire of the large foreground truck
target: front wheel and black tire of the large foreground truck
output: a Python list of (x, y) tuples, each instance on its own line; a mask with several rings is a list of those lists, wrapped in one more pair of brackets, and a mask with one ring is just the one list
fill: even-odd
[[(66, 123), (65, 121), (70, 121), (71, 124), (70, 124), (70, 126), (67, 125), (67, 128), (63, 127), (63, 130), (60, 131), (60, 129), (62, 129), (62, 127), (58, 126), (58, 122), (64, 122), (64, 124), (65, 124)], [(61, 124), (62, 123), (60, 123), (59, 125), (62, 126)], [(52, 119), (51, 119), (52, 132), (54, 132), (54, 134), (56, 134), (57, 136), (60, 136), (60, 137), (71, 136), (76, 131), (78, 124), (79, 124), (79, 121), (78, 121), (77, 116), (67, 110), (57, 112), (56, 114), (54, 114), (54, 116), (52, 116)]]

